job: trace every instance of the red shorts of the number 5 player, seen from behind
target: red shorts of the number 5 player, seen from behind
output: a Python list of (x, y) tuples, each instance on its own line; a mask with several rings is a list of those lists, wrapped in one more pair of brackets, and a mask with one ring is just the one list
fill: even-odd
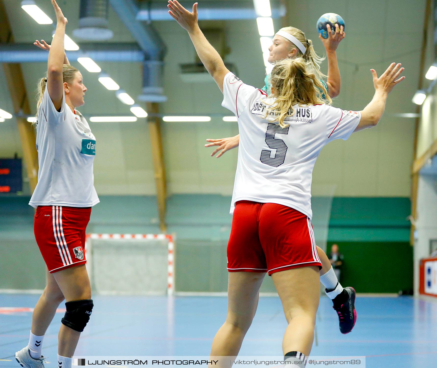
[(229, 272), (322, 268), (310, 219), (277, 203), (236, 203), (227, 256)]

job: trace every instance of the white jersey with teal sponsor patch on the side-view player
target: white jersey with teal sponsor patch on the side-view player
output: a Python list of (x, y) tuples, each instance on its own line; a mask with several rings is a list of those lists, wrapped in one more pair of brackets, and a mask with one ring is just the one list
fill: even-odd
[(71, 111), (62, 97), (58, 112), (45, 88), (36, 130), (38, 184), (29, 205), (91, 207), (99, 202), (94, 189), (96, 138), (83, 115)]

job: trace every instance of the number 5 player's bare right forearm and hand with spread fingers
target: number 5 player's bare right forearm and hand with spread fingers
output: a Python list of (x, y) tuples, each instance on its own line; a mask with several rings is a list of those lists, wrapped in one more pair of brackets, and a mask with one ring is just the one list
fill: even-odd
[(371, 102), (361, 111), (361, 120), (354, 132), (374, 127), (378, 124), (379, 119), (381, 119), (384, 113), (388, 94), (395, 85), (405, 79), (405, 77), (399, 78), (403, 70), (404, 68), (401, 68), (401, 64), (392, 63), (379, 78), (374, 69), (370, 70), (373, 76), (375, 95)]

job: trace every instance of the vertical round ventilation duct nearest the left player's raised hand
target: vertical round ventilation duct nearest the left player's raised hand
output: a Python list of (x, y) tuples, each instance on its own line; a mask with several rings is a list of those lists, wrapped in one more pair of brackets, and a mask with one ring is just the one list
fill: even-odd
[(102, 41), (114, 33), (108, 29), (108, 0), (80, 0), (79, 28), (73, 35), (79, 39)]

